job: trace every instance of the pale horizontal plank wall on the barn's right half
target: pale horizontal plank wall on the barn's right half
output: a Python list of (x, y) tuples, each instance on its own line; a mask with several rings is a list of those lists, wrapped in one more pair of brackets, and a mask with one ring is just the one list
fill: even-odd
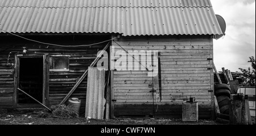
[[(209, 90), (213, 90), (213, 77), (208, 58), (213, 55), (213, 41), (210, 36), (133, 36), (121, 37), (115, 42), (115, 52), (122, 48), (160, 52), (162, 101), (156, 103), (154, 95), (155, 117), (181, 117), (181, 103), (189, 97), (199, 101), (199, 117), (211, 117), (213, 96)], [(152, 77), (147, 73), (114, 71), (114, 116), (153, 115), (152, 88), (148, 87)], [(158, 76), (154, 77), (154, 88), (158, 90)]]

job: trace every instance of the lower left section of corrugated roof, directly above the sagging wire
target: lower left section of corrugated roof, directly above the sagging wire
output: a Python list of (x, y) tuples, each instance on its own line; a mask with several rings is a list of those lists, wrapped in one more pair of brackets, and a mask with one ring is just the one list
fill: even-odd
[[(7, 32), (122, 33), (121, 8), (0, 8), (0, 28)], [(1, 31), (1, 30), (0, 30)]]

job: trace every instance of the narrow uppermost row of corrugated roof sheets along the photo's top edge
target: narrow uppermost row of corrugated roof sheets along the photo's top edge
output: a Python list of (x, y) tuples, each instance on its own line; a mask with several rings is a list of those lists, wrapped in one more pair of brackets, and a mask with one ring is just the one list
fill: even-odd
[(211, 7), (206, 0), (1, 0), (5, 7)]

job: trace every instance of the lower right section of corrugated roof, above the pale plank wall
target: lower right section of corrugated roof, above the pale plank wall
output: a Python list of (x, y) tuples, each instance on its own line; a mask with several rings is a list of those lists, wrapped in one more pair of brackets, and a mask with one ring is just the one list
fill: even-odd
[(207, 35), (218, 33), (212, 8), (125, 8), (124, 35)]

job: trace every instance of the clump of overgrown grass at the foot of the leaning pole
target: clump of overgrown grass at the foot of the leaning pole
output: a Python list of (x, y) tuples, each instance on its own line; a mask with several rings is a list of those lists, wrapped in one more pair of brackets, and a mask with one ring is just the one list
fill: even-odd
[(75, 112), (70, 105), (53, 105), (51, 108), (52, 113), (44, 111), (39, 113), (39, 117), (67, 117), (67, 118), (76, 118), (79, 117), (79, 114)]

